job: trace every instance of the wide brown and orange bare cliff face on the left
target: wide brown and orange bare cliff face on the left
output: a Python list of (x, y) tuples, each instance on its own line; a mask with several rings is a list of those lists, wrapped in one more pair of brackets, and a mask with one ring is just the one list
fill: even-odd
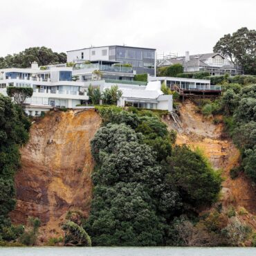
[(39, 217), (45, 232), (60, 232), (68, 210), (86, 216), (91, 201), (93, 159), (90, 141), (100, 127), (94, 110), (48, 112), (30, 129), (15, 176), (17, 205), (13, 223)]

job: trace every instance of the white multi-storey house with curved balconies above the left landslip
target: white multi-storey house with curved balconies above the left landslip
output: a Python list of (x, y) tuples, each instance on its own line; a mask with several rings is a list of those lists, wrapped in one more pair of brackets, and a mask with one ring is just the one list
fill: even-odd
[(33, 96), (27, 98), (24, 108), (30, 116), (39, 116), (53, 107), (72, 108), (89, 99), (81, 91), (82, 82), (72, 80), (73, 68), (46, 66), (39, 68), (6, 68), (0, 70), (0, 93), (7, 95), (7, 86), (33, 88)]

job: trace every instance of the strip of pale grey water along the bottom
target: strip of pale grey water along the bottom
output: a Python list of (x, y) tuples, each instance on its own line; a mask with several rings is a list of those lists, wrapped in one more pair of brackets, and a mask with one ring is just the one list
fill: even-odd
[(0, 256), (255, 256), (256, 248), (0, 247)]

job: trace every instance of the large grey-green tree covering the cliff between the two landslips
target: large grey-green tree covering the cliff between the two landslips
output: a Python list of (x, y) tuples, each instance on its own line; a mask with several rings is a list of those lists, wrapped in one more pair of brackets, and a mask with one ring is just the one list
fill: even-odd
[[(118, 120), (131, 122), (131, 117)], [(156, 124), (151, 129), (161, 131)], [(125, 123), (109, 123), (95, 134), (91, 151), (97, 167), (91, 214), (84, 228), (93, 237), (93, 244), (163, 245), (165, 218), (171, 219), (180, 202), (165, 182), (165, 169), (156, 162), (152, 147)]]

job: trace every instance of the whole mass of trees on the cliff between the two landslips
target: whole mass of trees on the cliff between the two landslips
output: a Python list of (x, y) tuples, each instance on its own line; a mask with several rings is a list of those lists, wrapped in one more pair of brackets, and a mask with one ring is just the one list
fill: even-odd
[(174, 147), (175, 132), (152, 111), (129, 110), (98, 107), (93, 200), (82, 226), (94, 246), (174, 245), (175, 217), (213, 203), (221, 178), (198, 152)]

